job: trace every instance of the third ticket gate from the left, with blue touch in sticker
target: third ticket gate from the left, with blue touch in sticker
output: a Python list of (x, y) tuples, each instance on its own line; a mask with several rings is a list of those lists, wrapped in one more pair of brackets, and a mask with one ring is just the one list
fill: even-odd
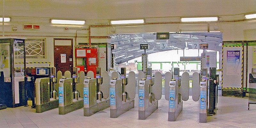
[(108, 97), (108, 72), (100, 72), (100, 68), (96, 69), (96, 78), (93, 78), (94, 74), (91, 74), (84, 79), (84, 116), (91, 116), (96, 112), (104, 110), (110, 106)]

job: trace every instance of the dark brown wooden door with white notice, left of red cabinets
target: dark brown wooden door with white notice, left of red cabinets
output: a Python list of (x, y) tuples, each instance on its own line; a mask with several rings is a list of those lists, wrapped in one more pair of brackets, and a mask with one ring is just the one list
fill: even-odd
[(56, 72), (73, 70), (73, 39), (54, 38), (54, 67)]

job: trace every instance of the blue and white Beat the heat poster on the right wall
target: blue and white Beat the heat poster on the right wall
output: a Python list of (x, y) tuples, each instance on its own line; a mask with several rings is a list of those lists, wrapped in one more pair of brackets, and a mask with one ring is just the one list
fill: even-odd
[(240, 50), (238, 51), (227, 51), (227, 75), (239, 76), (241, 73), (242, 60), (240, 59)]

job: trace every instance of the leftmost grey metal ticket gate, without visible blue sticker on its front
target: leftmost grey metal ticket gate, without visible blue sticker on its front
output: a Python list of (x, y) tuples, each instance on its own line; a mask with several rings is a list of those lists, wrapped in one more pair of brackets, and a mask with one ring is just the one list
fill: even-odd
[[(51, 77), (37, 78), (35, 81), (36, 88), (36, 113), (41, 113), (59, 107), (59, 96), (57, 96), (55, 84), (61, 77), (61, 71), (57, 73), (56, 68), (51, 67)], [(56, 80), (57, 78), (57, 80)]]

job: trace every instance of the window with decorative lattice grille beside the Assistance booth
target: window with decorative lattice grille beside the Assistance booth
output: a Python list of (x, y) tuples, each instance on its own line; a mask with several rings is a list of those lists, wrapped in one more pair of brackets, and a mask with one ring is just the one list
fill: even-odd
[[(45, 39), (26, 39), (26, 58), (44, 59), (46, 58), (46, 42)], [(15, 51), (15, 50), (14, 50)], [(23, 53), (20, 51), (14, 52), (15, 58), (22, 58)]]

